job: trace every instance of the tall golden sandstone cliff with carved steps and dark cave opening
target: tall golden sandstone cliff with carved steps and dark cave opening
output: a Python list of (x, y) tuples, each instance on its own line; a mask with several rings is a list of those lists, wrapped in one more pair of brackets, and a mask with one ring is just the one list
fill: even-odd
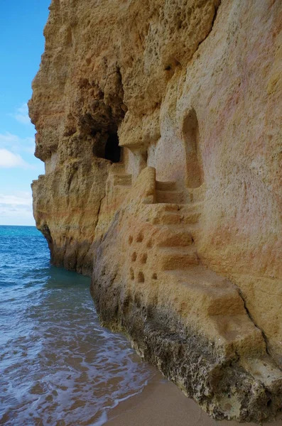
[[(78, 4), (79, 3), (79, 4)], [(53, 0), (36, 225), (217, 418), (282, 408), (282, 4)]]

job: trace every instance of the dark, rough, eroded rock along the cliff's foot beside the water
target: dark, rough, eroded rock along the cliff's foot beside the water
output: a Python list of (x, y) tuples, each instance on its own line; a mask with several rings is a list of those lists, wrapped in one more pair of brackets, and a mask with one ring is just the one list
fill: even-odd
[[(190, 398), (218, 420), (261, 422), (281, 410), (282, 378), (269, 356), (244, 361), (224, 354), (196, 329), (158, 305), (126, 294), (114, 276), (92, 282), (100, 320), (124, 332), (143, 359), (155, 365)], [(266, 378), (268, 376), (268, 378)], [(265, 380), (266, 379), (266, 380)]]

